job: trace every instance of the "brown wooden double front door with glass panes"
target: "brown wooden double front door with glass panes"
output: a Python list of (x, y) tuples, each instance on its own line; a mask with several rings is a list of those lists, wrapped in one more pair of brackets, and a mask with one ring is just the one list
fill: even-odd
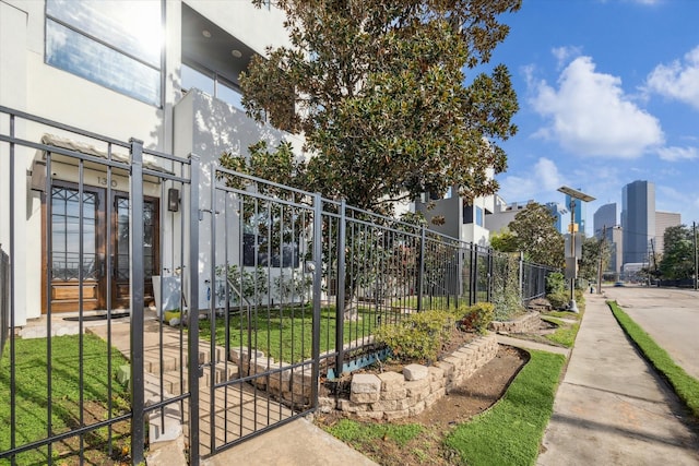
[[(45, 236), (43, 249), (44, 294), (50, 264), (50, 297), (44, 296), (44, 313), (49, 299), (52, 312), (129, 307), (129, 198), (122, 192), (114, 192), (110, 200), (106, 195), (102, 188), (85, 186), (81, 194), (76, 184), (51, 187), (45, 201), (50, 203), (50, 218), (44, 205), (50, 238), (49, 242)], [(159, 267), (158, 206), (157, 199), (144, 200), (145, 304), (153, 300), (151, 277)]]

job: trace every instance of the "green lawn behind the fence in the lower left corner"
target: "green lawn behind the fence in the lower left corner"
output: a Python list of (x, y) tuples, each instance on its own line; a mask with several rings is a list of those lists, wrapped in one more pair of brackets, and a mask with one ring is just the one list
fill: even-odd
[[(0, 452), (11, 446), (11, 432), (14, 431), (15, 445), (21, 446), (31, 442), (46, 439), (49, 432), (48, 422), (48, 365), (47, 338), (32, 338), (15, 340), (15, 421), (11, 422), (11, 383), (10, 383), (10, 346), (4, 348), (0, 361)], [(117, 368), (127, 363), (117, 350), (111, 353), (111, 374), (107, 373), (107, 345), (94, 335), (83, 335), (82, 357), (79, 353), (78, 335), (58, 336), (51, 342), (50, 381), (51, 381), (51, 416), (50, 431), (52, 434), (66, 432), (81, 426), (109, 418), (108, 383), (111, 381), (111, 411), (112, 416), (126, 414), (130, 409), (127, 389), (119, 384), (114, 374)], [(80, 361), (82, 359), (83, 391), (80, 391)], [(81, 413), (82, 396), (82, 413)], [(121, 429), (121, 433), (112, 431), (112, 439), (117, 444), (129, 445), (129, 430)], [(83, 447), (85, 457), (94, 458), (97, 463), (110, 464), (105, 454), (108, 442), (107, 428), (102, 428), (85, 434)], [(70, 456), (80, 449), (80, 440), (71, 438), (54, 444), (51, 456), (54, 461)], [(116, 452), (120, 455), (121, 446)], [(72, 451), (72, 453), (71, 453)], [(128, 450), (127, 450), (128, 452)], [(2, 462), (3, 459), (0, 459)], [(46, 464), (48, 449), (32, 450), (17, 455), (17, 464)]]

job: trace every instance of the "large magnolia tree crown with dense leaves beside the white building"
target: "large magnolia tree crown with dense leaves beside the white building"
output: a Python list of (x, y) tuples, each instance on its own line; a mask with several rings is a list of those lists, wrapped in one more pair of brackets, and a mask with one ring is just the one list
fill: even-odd
[(502, 64), (469, 73), (508, 34), (497, 16), (520, 3), (279, 0), (291, 45), (251, 61), (244, 106), (305, 136), (312, 157), (292, 182), (350, 205), (390, 213), (451, 186), (495, 193), (487, 169), (506, 168), (498, 141), (516, 133), (517, 96)]

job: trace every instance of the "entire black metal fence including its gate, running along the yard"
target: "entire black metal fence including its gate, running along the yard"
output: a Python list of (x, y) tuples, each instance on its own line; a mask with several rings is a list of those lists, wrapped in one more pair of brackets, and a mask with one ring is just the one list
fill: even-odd
[[(0, 462), (11, 464), (139, 463), (147, 443), (178, 434), (198, 464), (315, 410), (321, 378), (377, 357), (378, 325), (505, 292), (525, 302), (549, 272), (4, 107), (0, 164), (13, 258), (0, 283)], [(15, 208), (17, 193), (34, 207)], [(19, 235), (40, 256), (17, 263)], [(32, 302), (40, 318), (24, 322)]]

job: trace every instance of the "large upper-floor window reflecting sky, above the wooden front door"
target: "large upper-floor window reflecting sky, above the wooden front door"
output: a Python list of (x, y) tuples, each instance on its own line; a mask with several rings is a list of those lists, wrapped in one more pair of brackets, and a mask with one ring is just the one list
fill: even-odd
[(162, 105), (159, 1), (46, 1), (46, 63)]

